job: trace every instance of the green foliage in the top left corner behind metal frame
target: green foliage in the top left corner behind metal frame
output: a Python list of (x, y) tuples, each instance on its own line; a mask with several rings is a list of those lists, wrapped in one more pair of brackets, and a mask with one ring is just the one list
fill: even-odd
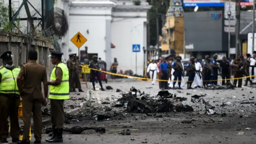
[(8, 21), (8, 6), (4, 4), (4, 0), (0, 0), (0, 29), (3, 29), (6, 25), (8, 25)]

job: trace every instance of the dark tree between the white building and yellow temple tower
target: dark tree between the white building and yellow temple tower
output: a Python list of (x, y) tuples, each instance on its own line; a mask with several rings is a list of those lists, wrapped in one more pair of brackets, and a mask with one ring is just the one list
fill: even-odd
[[(165, 14), (169, 8), (170, 0), (147, 0), (152, 6), (149, 10), (150, 45), (156, 45), (156, 19), (159, 23), (159, 34), (162, 35), (162, 26), (165, 24)], [(158, 12), (156, 12), (156, 10)]]

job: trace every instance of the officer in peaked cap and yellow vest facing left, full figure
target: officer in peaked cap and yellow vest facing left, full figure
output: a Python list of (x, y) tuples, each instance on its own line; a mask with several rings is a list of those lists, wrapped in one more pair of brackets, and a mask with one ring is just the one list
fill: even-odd
[(49, 99), (51, 104), (51, 120), (53, 136), (46, 142), (63, 142), (64, 100), (69, 99), (69, 73), (66, 64), (61, 62), (62, 52), (51, 50), (51, 61), (55, 65), (50, 77)]

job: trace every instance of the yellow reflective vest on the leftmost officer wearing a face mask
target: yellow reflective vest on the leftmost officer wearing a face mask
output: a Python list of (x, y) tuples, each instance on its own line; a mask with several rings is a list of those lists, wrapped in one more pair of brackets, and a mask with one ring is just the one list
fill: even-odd
[(0, 93), (4, 94), (20, 94), (17, 86), (17, 77), (20, 73), (20, 67), (14, 67), (12, 70), (4, 66), (0, 67), (0, 74), (2, 76), (0, 82)]

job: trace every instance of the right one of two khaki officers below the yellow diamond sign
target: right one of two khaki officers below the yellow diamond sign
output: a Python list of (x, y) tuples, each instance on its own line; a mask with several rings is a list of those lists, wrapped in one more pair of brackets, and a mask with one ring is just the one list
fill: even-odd
[(84, 92), (81, 88), (80, 66), (79, 66), (79, 63), (78, 63), (78, 58), (76, 58), (76, 56), (74, 56), (74, 58), (73, 58), (73, 64), (74, 64), (73, 91), (76, 91), (76, 87), (77, 87), (79, 92)]

